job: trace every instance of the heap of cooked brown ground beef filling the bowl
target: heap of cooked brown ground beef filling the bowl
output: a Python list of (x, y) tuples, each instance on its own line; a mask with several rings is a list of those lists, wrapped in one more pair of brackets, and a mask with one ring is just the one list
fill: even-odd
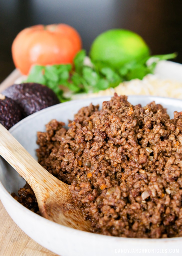
[(68, 130), (52, 120), (38, 132), (39, 163), (71, 185), (93, 232), (182, 236), (182, 112), (170, 120), (155, 102), (142, 108), (117, 94), (98, 107), (82, 108)]

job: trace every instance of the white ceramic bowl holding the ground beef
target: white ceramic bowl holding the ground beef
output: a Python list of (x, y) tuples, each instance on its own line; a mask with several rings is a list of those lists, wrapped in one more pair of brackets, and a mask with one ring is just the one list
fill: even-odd
[[(61, 103), (41, 110), (20, 121), (10, 129), (13, 136), (36, 158), (37, 131), (45, 131), (51, 119), (68, 123), (82, 106), (101, 104), (110, 97), (85, 99)], [(155, 100), (168, 109), (173, 117), (175, 110), (182, 110), (182, 101), (176, 99), (130, 96), (132, 104), (143, 106)], [(178, 255), (182, 253), (182, 237), (168, 239), (134, 239), (109, 237), (71, 229), (44, 219), (19, 204), (11, 195), (25, 184), (22, 177), (0, 157), (0, 199), (17, 225), (32, 239), (62, 256), (112, 256), (123, 255)], [(176, 251), (177, 250), (177, 251)]]

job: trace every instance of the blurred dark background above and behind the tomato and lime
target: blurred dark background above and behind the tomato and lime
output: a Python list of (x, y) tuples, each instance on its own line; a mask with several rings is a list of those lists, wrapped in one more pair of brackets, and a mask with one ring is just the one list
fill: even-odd
[(94, 38), (111, 28), (141, 35), (152, 54), (178, 52), (182, 63), (181, 0), (0, 0), (0, 82), (13, 71), (11, 45), (36, 24), (66, 23), (78, 30), (89, 52)]

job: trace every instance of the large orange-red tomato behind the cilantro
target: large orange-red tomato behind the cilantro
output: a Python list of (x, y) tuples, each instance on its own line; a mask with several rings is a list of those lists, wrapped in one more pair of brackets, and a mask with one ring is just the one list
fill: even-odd
[(69, 25), (36, 25), (23, 29), (16, 36), (12, 44), (12, 56), (15, 67), (27, 75), (34, 64), (73, 63), (81, 47), (80, 35)]

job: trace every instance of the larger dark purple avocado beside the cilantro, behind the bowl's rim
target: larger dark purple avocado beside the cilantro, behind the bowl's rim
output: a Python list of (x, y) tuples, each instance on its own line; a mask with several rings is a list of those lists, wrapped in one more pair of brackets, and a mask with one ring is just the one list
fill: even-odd
[(3, 94), (16, 101), (25, 116), (60, 103), (51, 89), (38, 83), (13, 84)]

